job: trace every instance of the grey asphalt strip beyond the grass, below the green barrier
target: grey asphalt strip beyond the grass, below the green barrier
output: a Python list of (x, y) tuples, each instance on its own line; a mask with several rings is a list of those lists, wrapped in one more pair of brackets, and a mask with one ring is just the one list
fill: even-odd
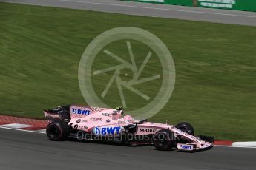
[(138, 3), (119, 0), (0, 0), (21, 4), (35, 4), (52, 7), (68, 7), (80, 10), (95, 10), (108, 13), (123, 13), (137, 16), (179, 18), (194, 21), (209, 21), (226, 24), (256, 26), (256, 13), (218, 10), (177, 5)]

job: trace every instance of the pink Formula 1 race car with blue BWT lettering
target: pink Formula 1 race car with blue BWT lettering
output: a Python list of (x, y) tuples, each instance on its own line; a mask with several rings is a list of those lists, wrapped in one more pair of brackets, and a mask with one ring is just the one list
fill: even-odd
[(158, 150), (177, 148), (190, 152), (209, 149), (214, 142), (213, 137), (195, 137), (194, 128), (189, 123), (174, 126), (134, 120), (129, 115), (123, 116), (122, 107), (105, 109), (69, 105), (44, 110), (44, 114), (49, 122), (46, 132), (50, 140), (65, 140), (66, 137), (113, 140), (128, 145), (154, 144)]

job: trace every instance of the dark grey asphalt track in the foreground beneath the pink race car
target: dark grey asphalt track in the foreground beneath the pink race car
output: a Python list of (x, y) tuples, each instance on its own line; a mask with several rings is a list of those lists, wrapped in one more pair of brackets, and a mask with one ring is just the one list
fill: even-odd
[(0, 169), (255, 169), (256, 149), (217, 147), (203, 152), (161, 152), (154, 146), (119, 146), (0, 129)]

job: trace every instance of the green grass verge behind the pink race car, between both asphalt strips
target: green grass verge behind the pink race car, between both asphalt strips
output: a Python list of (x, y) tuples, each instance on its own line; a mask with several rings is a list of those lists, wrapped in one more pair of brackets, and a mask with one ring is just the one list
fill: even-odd
[[(256, 140), (256, 27), (232, 24), (0, 3), (0, 112), (43, 118), (42, 109), (84, 103), (77, 78), (82, 53), (96, 35), (120, 26), (154, 33), (174, 58), (173, 95), (152, 121), (188, 121), (197, 134)], [(148, 49), (136, 47), (134, 54), (140, 63)], [(122, 42), (109, 44), (109, 48), (127, 57)], [(99, 54), (93, 69), (114, 63), (102, 57)], [(152, 55), (145, 77), (161, 72), (157, 63)], [(97, 95), (112, 74), (93, 79)], [(154, 96), (160, 81), (137, 88)], [(118, 91), (112, 88), (110, 92), (105, 102), (121, 105)], [(125, 96), (131, 102), (129, 109), (146, 102), (127, 90)]]

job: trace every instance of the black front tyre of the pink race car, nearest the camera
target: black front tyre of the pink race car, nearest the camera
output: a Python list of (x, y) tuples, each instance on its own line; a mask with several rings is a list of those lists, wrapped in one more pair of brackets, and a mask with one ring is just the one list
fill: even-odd
[(175, 145), (174, 133), (165, 129), (160, 130), (154, 134), (153, 143), (157, 150), (171, 150)]

